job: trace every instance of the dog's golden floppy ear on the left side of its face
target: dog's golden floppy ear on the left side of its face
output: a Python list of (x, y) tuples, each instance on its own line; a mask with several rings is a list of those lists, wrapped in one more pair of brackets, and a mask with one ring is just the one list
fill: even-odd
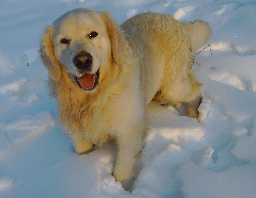
[(48, 68), (50, 78), (58, 82), (61, 77), (61, 68), (53, 54), (52, 34), (53, 25), (45, 29), (39, 52), (44, 65)]

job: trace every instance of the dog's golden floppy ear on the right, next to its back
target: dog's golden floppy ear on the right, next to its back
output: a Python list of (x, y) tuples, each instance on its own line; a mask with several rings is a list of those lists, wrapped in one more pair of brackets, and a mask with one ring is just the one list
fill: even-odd
[(113, 59), (117, 65), (121, 65), (124, 58), (124, 50), (126, 48), (123, 31), (118, 26), (116, 20), (112, 18), (110, 13), (99, 12), (99, 16), (107, 28), (108, 37), (111, 42)]

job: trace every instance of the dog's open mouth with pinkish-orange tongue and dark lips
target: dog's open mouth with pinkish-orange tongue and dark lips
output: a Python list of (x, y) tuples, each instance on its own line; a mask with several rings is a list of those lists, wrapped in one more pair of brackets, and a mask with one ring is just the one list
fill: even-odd
[(92, 90), (98, 85), (99, 70), (96, 73), (84, 73), (82, 77), (75, 77), (80, 88)]

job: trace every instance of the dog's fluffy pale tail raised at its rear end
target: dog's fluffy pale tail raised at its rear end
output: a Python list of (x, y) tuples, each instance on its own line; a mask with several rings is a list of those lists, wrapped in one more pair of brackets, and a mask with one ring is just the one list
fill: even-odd
[(212, 30), (209, 23), (203, 20), (182, 23), (190, 33), (190, 40), (193, 53), (195, 53), (202, 45), (204, 45), (211, 36)]

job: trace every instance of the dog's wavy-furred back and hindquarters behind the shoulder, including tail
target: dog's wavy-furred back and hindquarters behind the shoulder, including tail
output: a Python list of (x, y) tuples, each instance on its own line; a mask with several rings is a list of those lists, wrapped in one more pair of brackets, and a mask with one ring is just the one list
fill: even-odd
[(145, 103), (152, 99), (176, 106), (193, 103), (195, 112), (187, 115), (197, 118), (200, 83), (191, 69), (191, 60), (210, 37), (209, 24), (202, 20), (180, 22), (169, 14), (147, 12), (128, 19), (121, 28), (140, 63)]

